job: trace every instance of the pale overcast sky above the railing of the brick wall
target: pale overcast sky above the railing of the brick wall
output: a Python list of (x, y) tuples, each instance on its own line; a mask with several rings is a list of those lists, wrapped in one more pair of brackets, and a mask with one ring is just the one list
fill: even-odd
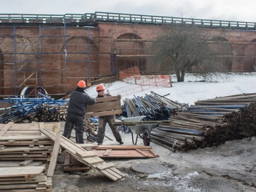
[(256, 22), (256, 0), (0, 0), (0, 13), (114, 12)]

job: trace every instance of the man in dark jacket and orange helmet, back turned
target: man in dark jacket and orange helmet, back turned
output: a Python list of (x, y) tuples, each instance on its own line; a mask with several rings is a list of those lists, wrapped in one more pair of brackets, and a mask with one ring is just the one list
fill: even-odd
[(63, 133), (63, 136), (69, 139), (75, 124), (76, 143), (84, 143), (84, 115), (87, 105), (96, 103), (96, 99), (91, 98), (84, 92), (85, 87), (85, 82), (83, 80), (79, 81), (76, 90), (71, 92), (67, 110), (68, 115)]

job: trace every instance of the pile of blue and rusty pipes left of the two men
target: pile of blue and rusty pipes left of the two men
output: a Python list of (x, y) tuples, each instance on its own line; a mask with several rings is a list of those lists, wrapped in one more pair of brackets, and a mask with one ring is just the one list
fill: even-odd
[(0, 123), (65, 121), (68, 100), (54, 100), (38, 92), (40, 98), (4, 98), (12, 106), (0, 108)]

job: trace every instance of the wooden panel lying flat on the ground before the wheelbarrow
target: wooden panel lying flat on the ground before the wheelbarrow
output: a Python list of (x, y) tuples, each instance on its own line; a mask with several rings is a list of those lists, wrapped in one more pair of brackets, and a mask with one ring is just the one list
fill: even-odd
[(116, 146), (116, 145), (95, 145), (80, 144), (87, 150), (92, 150), (98, 157), (119, 157), (119, 158), (150, 158), (158, 157), (150, 146)]

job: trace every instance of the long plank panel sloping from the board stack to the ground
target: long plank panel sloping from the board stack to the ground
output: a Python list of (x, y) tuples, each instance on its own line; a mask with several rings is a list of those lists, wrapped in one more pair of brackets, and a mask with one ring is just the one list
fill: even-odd
[[(44, 123), (40, 123), (40, 131), (51, 140), (56, 140), (56, 133), (52, 132), (51, 130), (45, 129)], [(80, 162), (97, 169), (113, 181), (121, 179), (125, 176), (125, 174), (118, 171), (113, 166), (100, 170), (98, 167), (106, 164), (101, 158), (97, 157), (97, 155), (94, 154), (92, 151), (85, 150), (79, 144), (74, 143), (73, 141), (65, 138), (64, 136), (61, 136), (60, 138), (60, 146), (62, 148), (65, 148), (70, 155), (75, 157)]]

